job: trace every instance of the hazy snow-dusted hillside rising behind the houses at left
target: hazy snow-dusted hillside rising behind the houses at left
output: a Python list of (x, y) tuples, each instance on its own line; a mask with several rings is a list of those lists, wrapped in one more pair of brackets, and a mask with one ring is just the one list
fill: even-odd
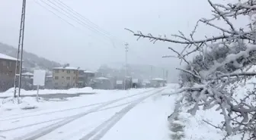
[[(11, 57), (17, 58), (18, 48), (14, 48), (11, 45), (5, 45), (0, 42), (0, 53), (7, 54)], [(51, 70), (52, 67), (60, 67), (61, 64), (49, 61), (46, 58), (40, 58), (36, 54), (24, 51), (23, 54), (24, 67), (30, 70), (34, 68), (40, 68), (43, 70)]]

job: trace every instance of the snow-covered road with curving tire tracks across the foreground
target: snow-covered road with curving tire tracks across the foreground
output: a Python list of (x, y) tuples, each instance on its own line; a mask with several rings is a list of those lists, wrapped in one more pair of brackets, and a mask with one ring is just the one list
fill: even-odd
[(34, 110), (11, 106), (0, 110), (0, 139), (167, 140), (174, 98), (161, 94), (172, 89), (109, 91), (43, 102)]

